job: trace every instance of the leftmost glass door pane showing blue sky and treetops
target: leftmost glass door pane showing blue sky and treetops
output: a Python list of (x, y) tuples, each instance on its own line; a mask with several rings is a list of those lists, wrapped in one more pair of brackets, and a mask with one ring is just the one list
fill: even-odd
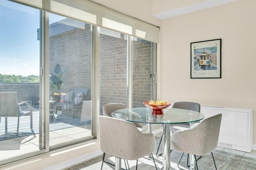
[(0, 162), (38, 152), (40, 10), (0, 1)]

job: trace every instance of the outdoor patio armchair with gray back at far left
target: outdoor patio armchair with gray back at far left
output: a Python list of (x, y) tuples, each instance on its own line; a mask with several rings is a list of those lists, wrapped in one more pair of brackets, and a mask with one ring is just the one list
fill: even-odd
[(18, 103), (16, 92), (0, 92), (0, 117), (5, 117), (5, 133), (8, 132), (7, 117), (18, 117), (17, 134), (19, 131), (20, 116), (29, 115), (30, 129), (33, 128), (32, 106), (30, 106), (30, 111), (22, 111), (20, 108), (21, 105), (31, 102), (32, 101)]

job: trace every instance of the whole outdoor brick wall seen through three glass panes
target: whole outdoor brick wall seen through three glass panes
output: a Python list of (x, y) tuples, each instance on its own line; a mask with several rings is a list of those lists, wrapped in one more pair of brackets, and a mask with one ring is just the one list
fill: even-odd
[[(107, 103), (126, 104), (126, 40), (100, 34), (100, 113)], [(50, 37), (50, 73), (60, 64), (64, 70), (61, 92), (88, 88), (91, 99), (92, 33), (90, 25)], [(142, 106), (151, 94), (151, 42), (134, 43), (133, 106)]]

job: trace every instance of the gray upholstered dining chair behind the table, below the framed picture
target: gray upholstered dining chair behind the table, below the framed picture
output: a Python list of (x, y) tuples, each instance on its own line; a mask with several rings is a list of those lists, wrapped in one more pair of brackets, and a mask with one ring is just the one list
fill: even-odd
[[(186, 110), (192, 110), (192, 111), (200, 112), (200, 104), (199, 103), (194, 103), (194, 102), (175, 102), (172, 105), (172, 108), (186, 109)], [(198, 123), (198, 122), (196, 122), (196, 123)], [(184, 129), (189, 129), (189, 123), (179, 123), (179, 124), (170, 125), (170, 131), (172, 131), (172, 132), (179, 131), (179, 130), (184, 130)], [(163, 137), (163, 135), (162, 135), (162, 137)], [(160, 143), (159, 143), (158, 149), (156, 151), (156, 156), (161, 155), (161, 154), (158, 154), (158, 150), (160, 148), (162, 137), (160, 139)], [(187, 165), (189, 167), (188, 160), (187, 160)]]

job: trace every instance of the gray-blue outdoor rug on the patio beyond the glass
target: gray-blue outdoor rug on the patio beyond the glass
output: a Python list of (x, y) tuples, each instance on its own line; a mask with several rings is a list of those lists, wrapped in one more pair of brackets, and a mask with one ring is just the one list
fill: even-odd
[[(39, 111), (33, 111), (33, 129), (30, 129), (30, 116), (20, 117), (20, 126), (18, 135), (17, 132), (17, 117), (8, 117), (8, 132), (5, 133), (5, 117), (1, 117), (0, 121), (0, 141), (13, 139), (16, 137), (23, 137), (28, 135), (34, 135), (39, 133)], [(50, 131), (56, 131), (60, 129), (66, 129), (69, 127), (87, 125), (91, 123), (91, 120), (80, 121), (80, 117), (72, 117), (68, 113), (62, 113), (56, 117), (56, 120), (50, 119), (49, 121)]]

